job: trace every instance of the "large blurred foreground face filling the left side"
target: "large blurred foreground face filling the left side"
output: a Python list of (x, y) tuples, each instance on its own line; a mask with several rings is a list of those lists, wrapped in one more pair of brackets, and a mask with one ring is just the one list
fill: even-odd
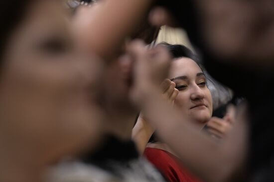
[(77, 57), (66, 18), (59, 1), (34, 1), (11, 35), (1, 67), (7, 141), (33, 148), (43, 160), (79, 149), (99, 131), (91, 89), (97, 63)]

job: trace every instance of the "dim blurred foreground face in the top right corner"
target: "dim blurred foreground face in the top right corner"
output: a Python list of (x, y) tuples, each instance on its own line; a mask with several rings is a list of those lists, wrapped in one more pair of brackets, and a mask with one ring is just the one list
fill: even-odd
[[(273, 65), (273, 0), (194, 0), (206, 47), (245, 66)], [(267, 63), (267, 64), (266, 64)]]

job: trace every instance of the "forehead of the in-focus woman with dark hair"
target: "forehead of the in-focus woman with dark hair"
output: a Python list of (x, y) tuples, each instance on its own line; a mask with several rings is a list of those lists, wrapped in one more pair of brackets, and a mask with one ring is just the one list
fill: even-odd
[(180, 58), (171, 62), (169, 78), (178, 76), (196, 77), (197, 73), (202, 72), (198, 64), (189, 58)]

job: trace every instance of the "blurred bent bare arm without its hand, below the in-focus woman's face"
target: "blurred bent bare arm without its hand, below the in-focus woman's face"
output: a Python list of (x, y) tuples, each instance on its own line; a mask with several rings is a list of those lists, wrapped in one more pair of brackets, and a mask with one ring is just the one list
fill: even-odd
[(243, 121), (238, 121), (226, 140), (216, 143), (201, 133), (190, 122), (182, 122), (179, 112), (161, 101), (161, 97), (148, 94), (144, 99), (144, 114), (156, 128), (161, 141), (182, 159), (183, 164), (202, 179), (222, 182), (233, 175), (246, 157), (247, 132)]

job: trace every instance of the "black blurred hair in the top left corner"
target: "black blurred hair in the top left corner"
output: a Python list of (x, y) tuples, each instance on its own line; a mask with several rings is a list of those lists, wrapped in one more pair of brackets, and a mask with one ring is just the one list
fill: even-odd
[(1, 0), (0, 1), (0, 58), (2, 59), (10, 35), (24, 18), (27, 7), (34, 0)]

